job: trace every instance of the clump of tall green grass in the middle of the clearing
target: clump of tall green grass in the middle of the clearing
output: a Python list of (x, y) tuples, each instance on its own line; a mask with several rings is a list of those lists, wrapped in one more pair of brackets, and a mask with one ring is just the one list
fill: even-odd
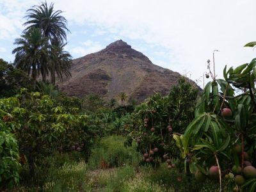
[(125, 138), (122, 136), (108, 136), (95, 145), (89, 159), (91, 168), (110, 168), (124, 164), (138, 165), (139, 154), (136, 145), (124, 147)]

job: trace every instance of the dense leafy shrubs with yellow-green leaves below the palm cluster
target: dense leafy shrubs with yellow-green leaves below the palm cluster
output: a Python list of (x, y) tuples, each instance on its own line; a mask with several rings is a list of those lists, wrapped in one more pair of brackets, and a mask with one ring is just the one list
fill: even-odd
[[(39, 92), (27, 92), (22, 89), (20, 94), (0, 100), (1, 134), (5, 145), (10, 145), (12, 164), (28, 163), (31, 176), (35, 175), (35, 166), (44, 163), (45, 156), (59, 150), (68, 152), (71, 150), (88, 152), (104, 131), (98, 129), (101, 126), (99, 118), (92, 118), (79, 112), (76, 108), (76, 99), (65, 98), (65, 102), (57, 102), (49, 95)], [(13, 133), (15, 138), (13, 138)], [(5, 143), (12, 138), (13, 144)], [(9, 142), (10, 142), (9, 141)], [(15, 143), (19, 145), (15, 147)], [(17, 159), (20, 154), (20, 161)], [(5, 150), (1, 156), (8, 156)], [(1, 179), (5, 177), (0, 174)], [(14, 177), (15, 176), (15, 177)], [(17, 181), (17, 175), (12, 179)], [(11, 177), (11, 175), (10, 175)]]

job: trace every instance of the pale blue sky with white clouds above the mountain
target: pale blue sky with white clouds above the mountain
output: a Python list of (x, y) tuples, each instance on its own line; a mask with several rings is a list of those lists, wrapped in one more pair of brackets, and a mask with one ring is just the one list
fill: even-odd
[[(13, 42), (22, 33), (26, 10), (37, 0), (0, 0), (0, 58), (13, 61)], [(255, 0), (56, 0), (68, 20), (67, 51), (73, 58), (124, 40), (152, 63), (186, 74), (202, 86), (215, 52), (217, 78), (223, 68), (256, 57), (244, 47), (256, 41)]]

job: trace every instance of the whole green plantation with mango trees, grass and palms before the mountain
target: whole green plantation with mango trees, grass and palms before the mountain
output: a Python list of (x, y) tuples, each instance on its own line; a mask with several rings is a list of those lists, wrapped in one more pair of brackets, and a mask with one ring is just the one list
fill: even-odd
[(71, 97), (58, 88), (72, 76), (62, 15), (33, 6), (14, 62), (0, 58), (0, 191), (256, 191), (256, 58), (218, 79), (213, 54), (203, 90), (179, 76), (143, 102)]

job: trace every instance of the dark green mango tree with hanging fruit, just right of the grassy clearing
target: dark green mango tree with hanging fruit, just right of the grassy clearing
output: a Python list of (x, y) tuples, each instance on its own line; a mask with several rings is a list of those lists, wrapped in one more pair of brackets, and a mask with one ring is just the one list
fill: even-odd
[[(136, 107), (127, 120), (129, 132), (127, 145), (132, 140), (138, 143), (138, 150), (143, 154), (143, 161), (159, 165), (160, 160), (179, 157), (173, 133), (184, 133), (186, 126), (194, 118), (195, 101), (198, 88), (182, 77), (179, 84), (173, 86), (166, 97), (159, 93), (149, 97)], [(173, 164), (174, 166), (174, 164)]]

